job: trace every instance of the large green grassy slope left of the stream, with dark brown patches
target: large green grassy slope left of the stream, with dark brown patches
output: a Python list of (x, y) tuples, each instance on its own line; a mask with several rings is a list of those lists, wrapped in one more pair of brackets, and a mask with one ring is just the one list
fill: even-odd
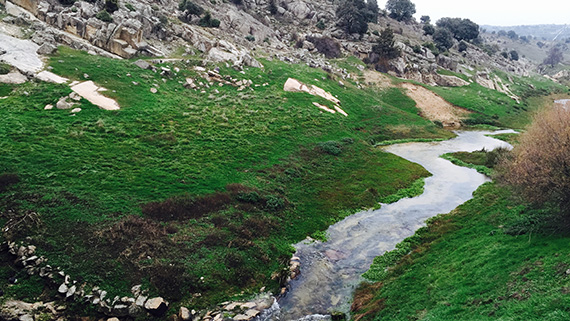
[[(202, 93), (182, 85), (206, 82), (193, 62), (163, 80), (129, 60), (60, 48), (52, 71), (87, 74), (121, 110), (85, 100), (75, 116), (44, 110), (70, 89), (36, 82), (0, 101), (0, 173), (20, 178), (0, 194), (2, 215), (15, 216), (2, 219), (39, 213), (37, 226), (20, 224), (10, 237), (30, 237), (52, 266), (113, 296), (142, 282), (176, 304), (205, 307), (265, 285), (277, 291), (270, 276), (288, 263), (289, 244), (428, 175), (373, 144), (453, 135), (418, 116), (401, 90), (359, 90), (304, 65), (263, 64), (221, 74), (268, 86), (214, 83)], [(349, 116), (283, 92), (288, 77), (335, 94)], [(320, 147), (328, 141), (340, 153)]]

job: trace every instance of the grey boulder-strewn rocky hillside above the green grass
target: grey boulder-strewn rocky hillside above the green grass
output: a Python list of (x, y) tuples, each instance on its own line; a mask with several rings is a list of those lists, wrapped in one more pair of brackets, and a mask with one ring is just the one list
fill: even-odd
[[(526, 76), (535, 68), (535, 64), (525, 58), (511, 61), (499, 54), (489, 56), (473, 45), (462, 53), (451, 49), (446, 55), (435, 56), (422, 45), (430, 42), (431, 37), (423, 35), (421, 25), (405, 24), (388, 17), (381, 16), (378, 24), (370, 24), (369, 33), (362, 39), (347, 35), (336, 27), (338, 3), (334, 1), (285, 0), (276, 4), (274, 14), (269, 11), (268, 0), (245, 0), (239, 5), (196, 1), (211, 12), (213, 18), (219, 19), (219, 28), (198, 26), (196, 16), (183, 23), (175, 0), (121, 1), (107, 22), (96, 18), (105, 8), (102, 1), (76, 1), (67, 6), (58, 0), (13, 0), (13, 3), (31, 14), (15, 10), (7, 1), (6, 7), (13, 16), (4, 21), (30, 30), (32, 40), (41, 45), (40, 51), (45, 54), (53, 52), (57, 44), (65, 44), (123, 58), (200, 55), (206, 61), (255, 67), (261, 64), (254, 56), (275, 55), (282, 60), (304, 61), (313, 67), (330, 69), (314, 39), (332, 38), (344, 54), (365, 58), (378, 39), (378, 31), (390, 27), (395, 30), (396, 46), (402, 54), (390, 61), (389, 72), (398, 77), (430, 85), (467, 84), (458, 77), (437, 72), (445, 69), (469, 76), (476, 74), (477, 79), (481, 79), (480, 84), (499, 88), (501, 86), (491, 87), (493, 79), (487, 76), (491, 70)], [(319, 22), (324, 29), (317, 28)]]

